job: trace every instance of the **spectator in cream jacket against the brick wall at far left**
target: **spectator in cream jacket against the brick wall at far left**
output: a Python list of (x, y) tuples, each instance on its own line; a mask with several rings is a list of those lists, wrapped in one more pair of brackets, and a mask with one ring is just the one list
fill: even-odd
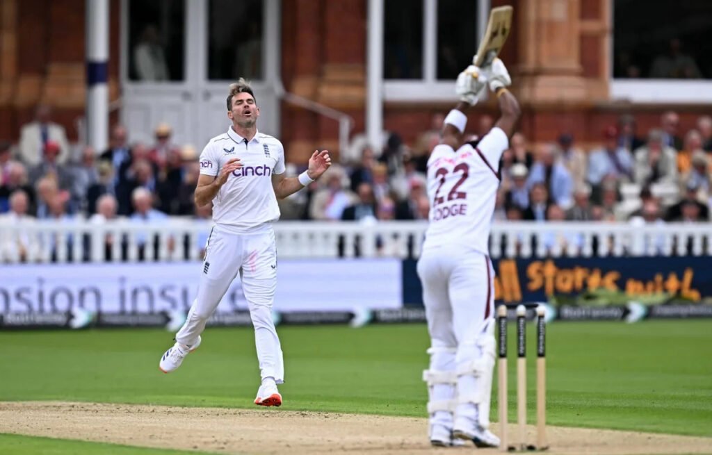
[(34, 167), (41, 163), (43, 152), (49, 142), (57, 146), (57, 164), (70, 159), (69, 141), (64, 127), (51, 121), (51, 108), (39, 105), (35, 119), (24, 125), (20, 131), (19, 156), (25, 166)]

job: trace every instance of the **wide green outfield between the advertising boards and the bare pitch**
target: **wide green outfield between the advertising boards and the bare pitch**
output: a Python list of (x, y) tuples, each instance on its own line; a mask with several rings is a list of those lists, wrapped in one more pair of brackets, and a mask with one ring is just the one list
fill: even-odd
[[(712, 437), (711, 328), (709, 321), (550, 324), (548, 422)], [(279, 332), (283, 409), (424, 417), (424, 325)], [(531, 419), (534, 336), (528, 324)], [(171, 339), (159, 330), (0, 333), (0, 400), (253, 407), (259, 378), (251, 328), (209, 329), (182, 368), (164, 375), (158, 360)], [(511, 361), (510, 415), (514, 367)]]

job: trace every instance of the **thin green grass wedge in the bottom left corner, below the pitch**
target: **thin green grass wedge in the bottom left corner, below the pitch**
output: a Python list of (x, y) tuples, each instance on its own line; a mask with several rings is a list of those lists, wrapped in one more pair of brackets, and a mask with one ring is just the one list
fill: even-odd
[(146, 449), (119, 444), (19, 436), (17, 434), (0, 434), (0, 449), (4, 455), (200, 455), (207, 453)]

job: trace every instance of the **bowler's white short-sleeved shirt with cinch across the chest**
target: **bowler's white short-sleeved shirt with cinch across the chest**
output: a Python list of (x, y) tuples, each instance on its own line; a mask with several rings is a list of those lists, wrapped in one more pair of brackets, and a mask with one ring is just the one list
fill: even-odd
[(217, 176), (233, 158), (239, 158), (242, 167), (228, 177), (213, 199), (213, 220), (217, 230), (245, 234), (279, 219), (272, 176), (285, 171), (284, 147), (260, 132), (247, 141), (230, 127), (203, 149), (200, 173)]

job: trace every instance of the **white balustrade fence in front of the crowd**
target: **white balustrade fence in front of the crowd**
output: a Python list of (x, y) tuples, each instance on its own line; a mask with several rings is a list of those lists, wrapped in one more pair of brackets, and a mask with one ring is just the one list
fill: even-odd
[[(418, 257), (426, 223), (283, 221), (274, 225), (282, 258)], [(172, 218), (95, 224), (0, 218), (0, 262), (137, 262), (201, 259), (211, 223)], [(107, 242), (112, 239), (112, 242)], [(495, 223), (492, 257), (710, 255), (708, 223)]]

